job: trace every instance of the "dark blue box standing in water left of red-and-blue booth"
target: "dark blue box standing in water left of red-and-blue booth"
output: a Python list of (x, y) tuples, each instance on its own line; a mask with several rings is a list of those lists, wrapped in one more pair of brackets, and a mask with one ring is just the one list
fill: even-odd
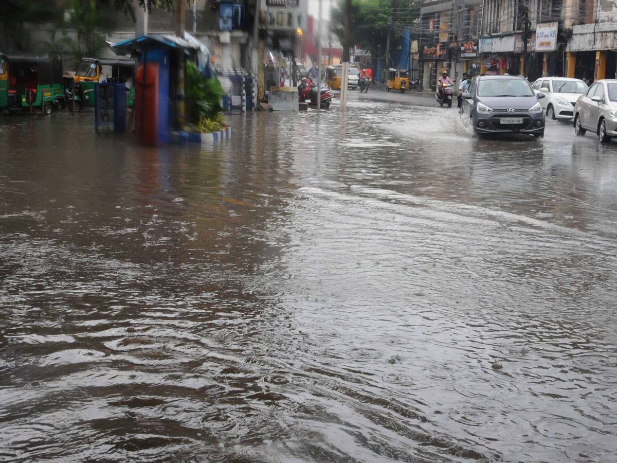
[(123, 83), (94, 85), (96, 133), (124, 133), (126, 130), (126, 86)]

